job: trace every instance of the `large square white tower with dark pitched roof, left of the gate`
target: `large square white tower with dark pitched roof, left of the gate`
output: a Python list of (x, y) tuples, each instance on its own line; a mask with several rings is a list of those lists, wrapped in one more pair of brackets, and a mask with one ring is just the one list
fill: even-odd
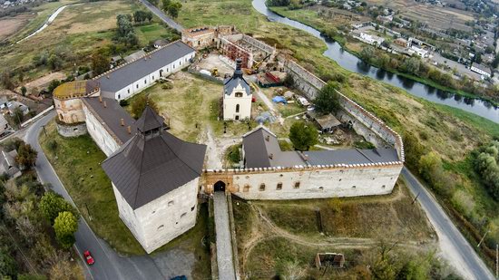
[(163, 130), (147, 106), (137, 132), (103, 161), (122, 221), (147, 253), (194, 227), (206, 146)]

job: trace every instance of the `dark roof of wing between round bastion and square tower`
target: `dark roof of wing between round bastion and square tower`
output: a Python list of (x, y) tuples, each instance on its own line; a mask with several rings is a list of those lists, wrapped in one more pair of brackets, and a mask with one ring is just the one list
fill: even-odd
[[(111, 98), (84, 97), (83, 103), (93, 111), (97, 118), (101, 119), (103, 126), (110, 130), (111, 134), (121, 141), (119, 144), (126, 143), (137, 132), (136, 121), (125, 111), (120, 103)], [(105, 107), (104, 107), (105, 101)], [(124, 125), (122, 126), (122, 120)], [(128, 127), (131, 133), (128, 132)]]

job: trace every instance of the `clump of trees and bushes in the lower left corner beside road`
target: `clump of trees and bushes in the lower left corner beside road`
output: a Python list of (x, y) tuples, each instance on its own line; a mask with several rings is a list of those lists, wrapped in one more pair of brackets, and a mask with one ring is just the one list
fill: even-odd
[(41, 280), (81, 277), (81, 267), (66, 249), (73, 245), (76, 210), (53, 192), (44, 192), (29, 169), (36, 159), (29, 145), (12, 140), (4, 149), (17, 150), (15, 160), (26, 169), (17, 179), (0, 177), (0, 276)]

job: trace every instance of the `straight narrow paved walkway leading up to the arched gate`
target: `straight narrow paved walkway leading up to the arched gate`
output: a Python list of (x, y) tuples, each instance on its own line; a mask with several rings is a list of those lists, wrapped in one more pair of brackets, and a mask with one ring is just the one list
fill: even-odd
[(220, 280), (235, 280), (236, 272), (232, 257), (232, 241), (230, 239), (229, 207), (223, 191), (213, 195), (215, 212), (215, 231), (217, 232), (217, 265)]

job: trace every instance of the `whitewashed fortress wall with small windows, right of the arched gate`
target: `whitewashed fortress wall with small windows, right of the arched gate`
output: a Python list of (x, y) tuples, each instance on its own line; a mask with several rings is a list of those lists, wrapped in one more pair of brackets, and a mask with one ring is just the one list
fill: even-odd
[[(249, 200), (377, 196), (392, 192), (401, 169), (402, 165), (255, 171), (234, 174), (233, 187), (236, 195)], [(265, 184), (264, 190), (260, 190), (261, 184)]]

